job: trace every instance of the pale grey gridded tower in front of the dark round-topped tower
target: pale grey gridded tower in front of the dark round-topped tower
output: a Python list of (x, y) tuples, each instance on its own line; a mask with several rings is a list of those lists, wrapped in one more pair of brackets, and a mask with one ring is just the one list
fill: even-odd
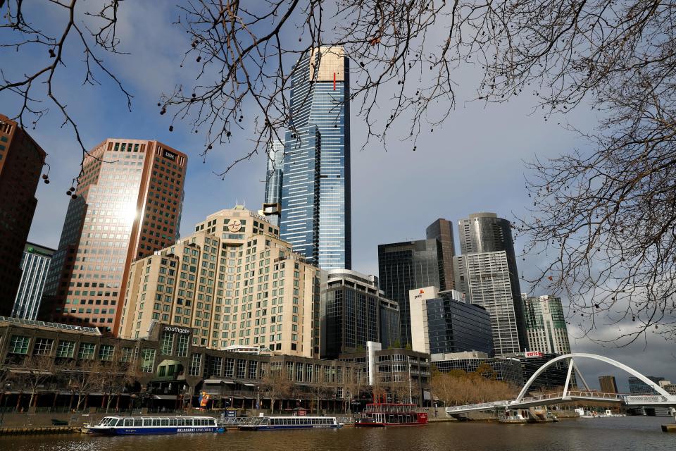
[(472, 304), (484, 307), (491, 315), (495, 354), (520, 352), (517, 312), (506, 252), (465, 254), (456, 257), (456, 261), (456, 278), (462, 280), (465, 295)]

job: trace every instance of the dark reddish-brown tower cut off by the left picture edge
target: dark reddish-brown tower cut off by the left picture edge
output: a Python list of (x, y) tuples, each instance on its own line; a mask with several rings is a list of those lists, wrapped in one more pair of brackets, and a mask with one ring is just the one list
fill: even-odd
[(12, 312), (45, 156), (18, 123), (0, 114), (0, 316)]

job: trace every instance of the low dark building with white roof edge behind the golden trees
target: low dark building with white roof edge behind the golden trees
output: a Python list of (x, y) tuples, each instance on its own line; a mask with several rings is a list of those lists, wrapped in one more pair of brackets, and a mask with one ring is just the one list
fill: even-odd
[(521, 362), (518, 359), (489, 357), (485, 352), (477, 351), (432, 354), (430, 359), (434, 368), (441, 373), (458, 370), (465, 373), (480, 371), (486, 378), (508, 382), (515, 387), (520, 387), (524, 383)]

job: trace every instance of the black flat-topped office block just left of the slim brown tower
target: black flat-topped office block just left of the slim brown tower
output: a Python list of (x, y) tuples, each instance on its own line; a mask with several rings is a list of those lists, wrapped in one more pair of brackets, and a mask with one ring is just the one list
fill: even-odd
[(437, 240), (395, 242), (378, 246), (380, 289), (399, 304), (401, 346), (411, 344), (411, 311), (408, 292), (414, 288), (439, 287), (442, 249)]

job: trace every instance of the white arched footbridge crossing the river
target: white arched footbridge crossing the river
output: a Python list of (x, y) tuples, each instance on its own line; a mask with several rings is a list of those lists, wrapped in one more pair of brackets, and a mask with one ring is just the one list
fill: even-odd
[[(565, 378), (565, 385), (563, 386), (563, 391), (558, 393), (548, 393), (546, 395), (537, 395), (537, 396), (526, 396), (528, 389), (532, 383), (540, 376), (549, 366), (561, 362), (561, 360), (568, 360), (568, 375)], [(630, 373), (632, 376), (636, 376), (644, 383), (648, 384), (653, 390), (657, 392), (657, 395), (621, 395), (619, 393), (600, 393), (596, 390), (591, 390), (587, 381), (584, 381), (580, 369), (575, 365), (575, 359), (593, 359), (598, 360), (599, 362), (604, 362), (611, 364), (619, 369)], [(570, 389), (570, 379), (575, 371), (575, 374), (580, 377), (582, 385), (584, 385), (584, 390), (571, 390)], [(546, 404), (558, 404), (560, 402), (568, 401), (604, 401), (604, 402), (618, 402), (625, 404), (629, 407), (676, 407), (676, 396), (670, 395), (659, 385), (656, 385), (649, 378), (646, 378), (643, 374), (638, 371), (631, 369), (625, 364), (621, 364), (613, 359), (608, 359), (608, 357), (603, 357), (596, 354), (584, 354), (581, 352), (573, 352), (572, 354), (565, 354), (554, 359), (551, 359), (546, 364), (542, 365), (525, 383), (521, 389), (519, 395), (515, 400), (508, 401), (494, 401), (494, 402), (484, 402), (482, 404), (468, 404), (464, 406), (453, 406), (446, 407), (446, 413), (449, 415), (456, 414), (465, 414), (468, 412), (480, 412), (482, 410), (494, 410), (494, 409), (521, 409), (534, 406), (542, 406)]]

